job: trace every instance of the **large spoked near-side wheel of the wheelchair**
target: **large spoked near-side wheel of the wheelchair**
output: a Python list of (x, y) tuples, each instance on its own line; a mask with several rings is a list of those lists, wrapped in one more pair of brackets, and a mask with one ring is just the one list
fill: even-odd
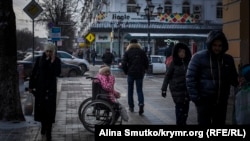
[(83, 126), (94, 133), (95, 125), (111, 125), (115, 123), (115, 111), (108, 102), (94, 100), (84, 107), (81, 118)]

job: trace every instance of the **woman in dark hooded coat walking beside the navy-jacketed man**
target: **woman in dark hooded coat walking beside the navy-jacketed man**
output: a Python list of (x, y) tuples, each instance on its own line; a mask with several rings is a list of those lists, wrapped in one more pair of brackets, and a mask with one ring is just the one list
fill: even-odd
[(186, 72), (192, 57), (184, 43), (177, 43), (173, 48), (173, 61), (170, 63), (162, 84), (162, 97), (166, 98), (169, 86), (174, 104), (176, 125), (186, 125), (189, 111), (189, 95), (186, 87)]

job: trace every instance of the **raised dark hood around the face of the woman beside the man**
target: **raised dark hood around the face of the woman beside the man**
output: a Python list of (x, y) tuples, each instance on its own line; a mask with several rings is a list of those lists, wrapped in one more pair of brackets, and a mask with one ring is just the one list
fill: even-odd
[(191, 54), (191, 51), (188, 48), (188, 46), (186, 44), (184, 44), (184, 43), (177, 43), (174, 46), (173, 52), (172, 52), (174, 63), (175, 64), (182, 64), (182, 59), (178, 55), (178, 50), (179, 49), (184, 49), (185, 50), (186, 57), (184, 58), (184, 62), (188, 63), (190, 61), (191, 57), (192, 57), (192, 54)]

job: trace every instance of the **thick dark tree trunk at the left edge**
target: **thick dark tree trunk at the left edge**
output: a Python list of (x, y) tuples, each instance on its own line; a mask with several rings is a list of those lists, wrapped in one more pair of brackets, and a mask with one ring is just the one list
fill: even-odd
[(0, 120), (25, 121), (18, 84), (16, 21), (12, 0), (0, 1)]

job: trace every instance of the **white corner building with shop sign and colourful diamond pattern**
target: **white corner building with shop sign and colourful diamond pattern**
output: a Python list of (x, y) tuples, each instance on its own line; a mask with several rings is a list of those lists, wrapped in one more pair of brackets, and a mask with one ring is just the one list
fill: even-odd
[[(91, 48), (99, 57), (106, 48), (122, 57), (132, 38), (150, 54), (158, 54), (170, 42), (185, 42), (194, 53), (206, 48), (209, 31), (222, 30), (223, 25), (222, 0), (85, 0), (84, 5), (80, 33), (95, 34)], [(147, 16), (144, 9), (152, 5)]]

